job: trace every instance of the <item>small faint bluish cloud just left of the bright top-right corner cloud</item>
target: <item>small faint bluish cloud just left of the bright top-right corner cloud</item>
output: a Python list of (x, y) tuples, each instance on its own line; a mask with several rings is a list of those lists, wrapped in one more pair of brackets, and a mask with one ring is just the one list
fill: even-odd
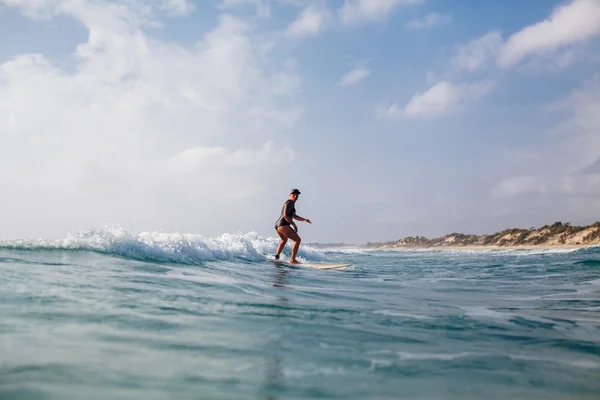
[(497, 31), (488, 32), (480, 38), (458, 47), (452, 64), (457, 68), (474, 71), (487, 65), (498, 54), (502, 36)]

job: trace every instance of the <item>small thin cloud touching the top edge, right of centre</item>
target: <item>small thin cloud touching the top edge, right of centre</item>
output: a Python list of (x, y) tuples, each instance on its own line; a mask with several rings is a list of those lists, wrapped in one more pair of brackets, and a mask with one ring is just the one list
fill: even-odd
[(379, 21), (387, 17), (395, 8), (402, 5), (421, 4), (425, 0), (345, 0), (338, 9), (340, 21), (344, 25), (359, 25)]

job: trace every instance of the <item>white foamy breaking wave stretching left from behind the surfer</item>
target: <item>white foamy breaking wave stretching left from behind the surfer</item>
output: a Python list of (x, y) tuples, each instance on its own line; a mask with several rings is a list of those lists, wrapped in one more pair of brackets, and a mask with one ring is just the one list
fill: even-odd
[[(4, 240), (0, 241), (0, 248), (87, 250), (143, 261), (196, 264), (203, 261), (264, 261), (276, 251), (278, 242), (279, 239), (263, 238), (254, 232), (205, 238), (192, 233), (144, 232), (134, 235), (123, 228), (105, 227), (64, 239)], [(298, 255), (308, 260), (327, 259), (323, 253), (308, 246), (302, 246)]]

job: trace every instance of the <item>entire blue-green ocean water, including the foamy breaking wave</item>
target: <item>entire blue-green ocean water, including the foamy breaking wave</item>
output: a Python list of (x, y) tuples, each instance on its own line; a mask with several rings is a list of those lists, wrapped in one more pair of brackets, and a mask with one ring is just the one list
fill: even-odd
[[(1, 399), (597, 399), (600, 248), (0, 242)], [(289, 248), (286, 249), (289, 254)]]

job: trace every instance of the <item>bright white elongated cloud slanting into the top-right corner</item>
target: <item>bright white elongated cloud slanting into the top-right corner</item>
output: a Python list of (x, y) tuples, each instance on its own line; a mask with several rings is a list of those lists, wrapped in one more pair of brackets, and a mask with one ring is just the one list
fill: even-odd
[(498, 65), (511, 67), (523, 58), (585, 41), (600, 34), (600, 1), (574, 0), (550, 18), (512, 35), (502, 46)]

